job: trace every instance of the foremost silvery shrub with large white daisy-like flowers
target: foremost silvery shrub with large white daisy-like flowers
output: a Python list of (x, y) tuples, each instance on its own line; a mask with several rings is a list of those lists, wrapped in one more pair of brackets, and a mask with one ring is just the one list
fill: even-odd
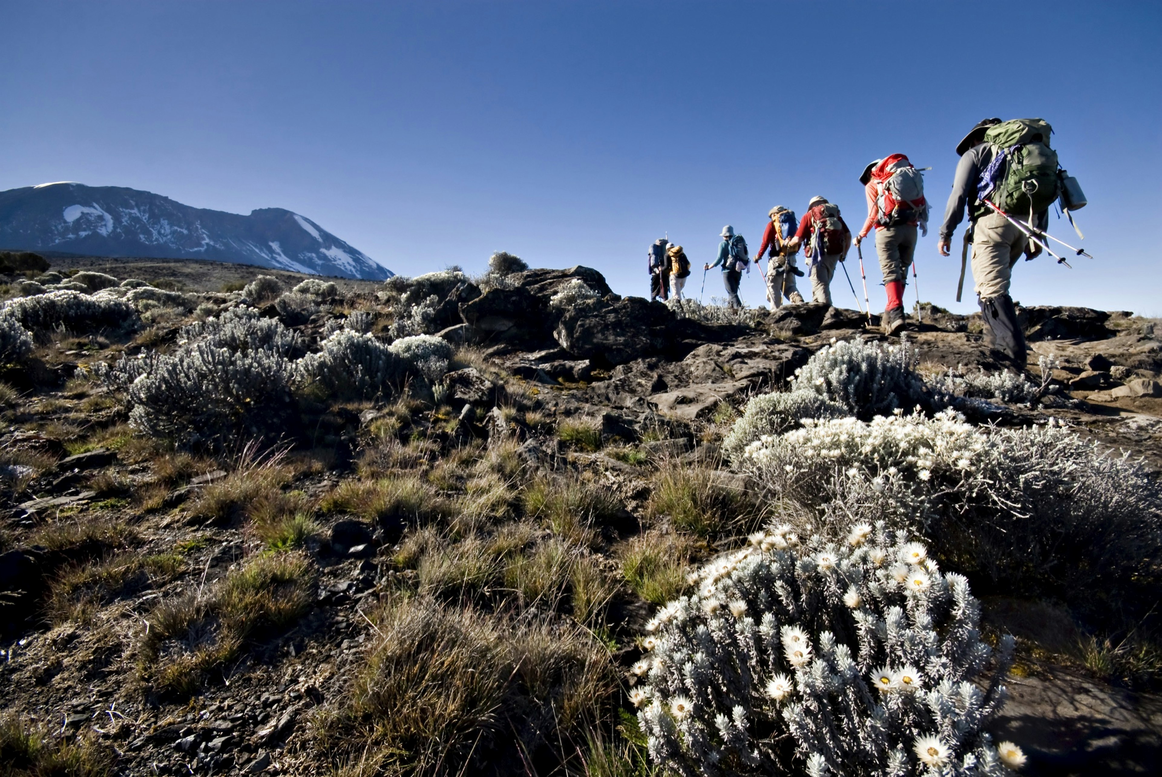
[(634, 667), (653, 761), (687, 777), (1005, 774), (985, 726), (1013, 640), (994, 655), (968, 581), (905, 539), (782, 526), (691, 574)]

